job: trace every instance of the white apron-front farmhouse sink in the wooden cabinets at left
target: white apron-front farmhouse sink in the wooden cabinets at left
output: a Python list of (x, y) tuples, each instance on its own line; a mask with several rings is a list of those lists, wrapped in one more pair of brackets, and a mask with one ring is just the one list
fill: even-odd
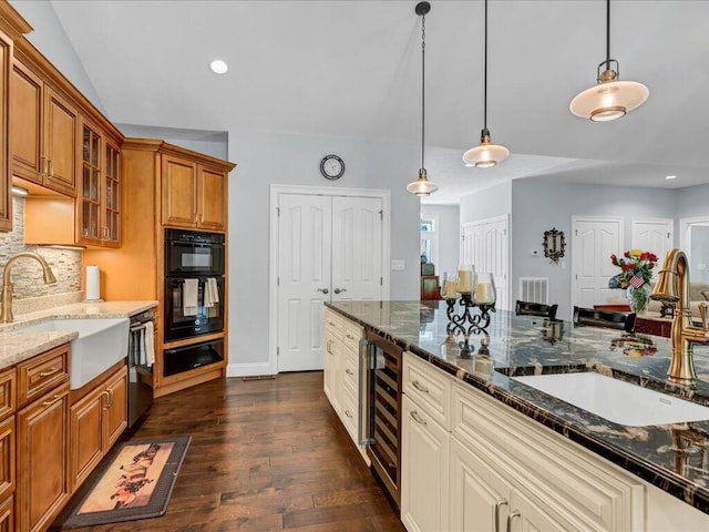
[(69, 350), (69, 387), (81, 388), (129, 352), (129, 318), (50, 319), (19, 331), (75, 330)]

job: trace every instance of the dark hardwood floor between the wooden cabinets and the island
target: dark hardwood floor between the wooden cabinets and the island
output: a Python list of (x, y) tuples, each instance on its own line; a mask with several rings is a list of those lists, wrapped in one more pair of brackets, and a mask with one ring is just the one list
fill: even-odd
[(403, 532), (322, 392), (322, 372), (160, 398), (130, 440), (192, 436), (162, 518), (74, 530)]

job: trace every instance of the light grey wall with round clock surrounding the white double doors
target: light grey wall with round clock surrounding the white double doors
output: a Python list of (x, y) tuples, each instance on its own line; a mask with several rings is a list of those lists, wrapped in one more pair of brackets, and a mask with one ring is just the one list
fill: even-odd
[[(337, 182), (320, 175), (320, 160), (345, 160)], [(229, 130), (229, 375), (257, 375), (268, 367), (270, 185), (382, 188), (391, 191), (391, 299), (419, 298), (419, 198), (405, 192), (418, 176), (418, 147), (335, 137)]]

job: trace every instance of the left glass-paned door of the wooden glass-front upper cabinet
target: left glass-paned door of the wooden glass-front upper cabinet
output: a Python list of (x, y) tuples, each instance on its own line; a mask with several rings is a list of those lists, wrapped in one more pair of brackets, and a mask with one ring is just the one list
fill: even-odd
[(101, 135), (88, 124), (82, 126), (81, 204), (79, 206), (79, 239), (100, 243), (101, 227)]

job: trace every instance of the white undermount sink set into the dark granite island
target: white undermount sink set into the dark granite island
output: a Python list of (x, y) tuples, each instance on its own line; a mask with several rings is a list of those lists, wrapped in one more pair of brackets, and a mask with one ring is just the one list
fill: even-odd
[(709, 420), (709, 407), (593, 371), (511, 378), (614, 423), (629, 427)]

